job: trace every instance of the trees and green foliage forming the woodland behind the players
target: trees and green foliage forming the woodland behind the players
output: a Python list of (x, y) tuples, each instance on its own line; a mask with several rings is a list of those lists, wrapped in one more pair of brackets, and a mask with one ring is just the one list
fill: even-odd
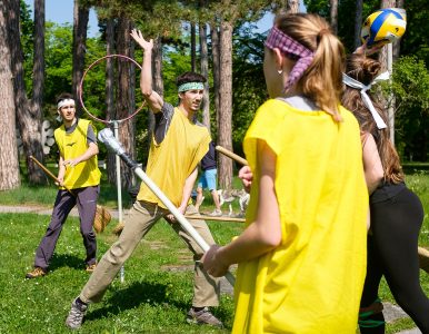
[[(72, 24), (46, 21), (44, 0), (34, 0), (33, 19), (24, 1), (3, 0), (0, 6), (0, 49), (4, 55), (0, 60), (0, 190), (19, 187), (22, 169), (30, 184), (48, 181), (28, 157), (43, 163), (58, 159), (54, 145), (48, 153), (46, 146), (52, 140), (43, 135), (47, 129), (42, 126), (43, 120), (51, 127), (59, 125), (56, 96), (70, 91), (79, 98), (86, 69), (107, 55), (124, 55), (141, 62), (141, 51), (129, 36), (134, 27), (154, 39), (154, 89), (174, 105), (178, 75), (188, 70), (206, 75), (209, 82), (200, 120), (218, 145), (242, 155), (246, 130), (268, 97), (262, 73), (266, 32), (260, 32), (256, 22), (267, 12), (297, 12), (302, 6), (330, 21), (348, 52), (361, 43), (360, 27), (368, 14), (379, 8), (407, 10), (407, 32), (393, 45), (392, 81), (382, 86), (380, 98), (393, 111), (390, 125), (402, 161), (428, 160), (427, 0), (74, 0)], [(88, 37), (89, 9), (96, 10), (99, 21), (100, 33), (94, 37)], [(387, 68), (387, 50), (378, 57)], [(101, 119), (128, 117), (142, 102), (139, 79), (139, 68), (129, 61), (109, 58), (99, 62), (84, 77), (87, 109)], [(80, 106), (79, 112), (84, 114)], [(150, 116), (143, 106), (134, 118), (119, 125), (120, 141), (143, 165), (153, 127)], [(106, 126), (94, 125), (98, 129)], [(109, 181), (114, 184), (114, 157), (102, 149), (100, 159), (106, 159)], [(230, 188), (236, 166), (223, 156), (218, 163), (220, 187)], [(132, 173), (124, 166), (122, 170), (122, 186), (132, 186)]]

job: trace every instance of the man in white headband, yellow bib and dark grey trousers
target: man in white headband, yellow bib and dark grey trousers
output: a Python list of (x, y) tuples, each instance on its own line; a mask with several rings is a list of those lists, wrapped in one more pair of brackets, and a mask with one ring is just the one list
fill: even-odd
[(26, 275), (27, 278), (41, 277), (48, 273), (62, 226), (76, 205), (87, 250), (86, 271), (91, 273), (97, 265), (97, 240), (92, 228), (101, 175), (97, 160), (97, 137), (89, 120), (76, 117), (74, 100), (70, 94), (60, 95), (57, 104), (62, 120), (62, 125), (54, 130), (60, 150), (59, 190), (51, 222), (36, 250), (34, 268)]

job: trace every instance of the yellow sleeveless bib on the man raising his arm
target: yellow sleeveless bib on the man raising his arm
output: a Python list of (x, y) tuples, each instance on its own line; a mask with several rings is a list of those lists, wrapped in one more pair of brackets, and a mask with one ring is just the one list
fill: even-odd
[[(208, 129), (191, 122), (178, 108), (174, 108), (163, 140), (158, 144), (152, 137), (146, 173), (177, 207), (182, 200), (186, 179), (209, 150), (210, 141)], [(144, 183), (137, 199), (166, 208)]]

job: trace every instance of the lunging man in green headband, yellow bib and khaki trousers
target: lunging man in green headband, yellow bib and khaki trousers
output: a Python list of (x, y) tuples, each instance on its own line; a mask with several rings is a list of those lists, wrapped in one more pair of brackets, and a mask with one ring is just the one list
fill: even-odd
[[(197, 122), (206, 78), (196, 72), (179, 76), (177, 78), (179, 106), (173, 108), (152, 90), (153, 41), (147, 41), (137, 30), (132, 30), (131, 36), (144, 51), (140, 88), (156, 119), (146, 173), (182, 214), (198, 215), (190, 195), (197, 179), (198, 164), (209, 150), (211, 141), (208, 129)], [(146, 184), (141, 184), (119, 239), (102, 256), (80, 295), (72, 302), (66, 321), (68, 327), (81, 326), (88, 304), (101, 301), (122, 264), (160, 218), (167, 219), (193, 253), (196, 261), (192, 307), (187, 314), (187, 322), (222, 326), (209, 310), (210, 306), (219, 305), (219, 278), (206, 273), (200, 263), (202, 249), (180, 224), (174, 223), (174, 217)], [(191, 219), (190, 223), (209, 245), (214, 244), (204, 220)]]

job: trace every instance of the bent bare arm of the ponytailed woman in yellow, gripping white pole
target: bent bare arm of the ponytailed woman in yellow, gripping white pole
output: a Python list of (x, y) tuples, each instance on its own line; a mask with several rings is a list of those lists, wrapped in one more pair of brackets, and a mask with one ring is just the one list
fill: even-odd
[(259, 180), (256, 220), (232, 243), (211, 246), (203, 257), (207, 272), (216, 277), (226, 274), (231, 264), (252, 259), (278, 247), (281, 243), (280, 213), (275, 189), (276, 155), (265, 141), (258, 141)]

